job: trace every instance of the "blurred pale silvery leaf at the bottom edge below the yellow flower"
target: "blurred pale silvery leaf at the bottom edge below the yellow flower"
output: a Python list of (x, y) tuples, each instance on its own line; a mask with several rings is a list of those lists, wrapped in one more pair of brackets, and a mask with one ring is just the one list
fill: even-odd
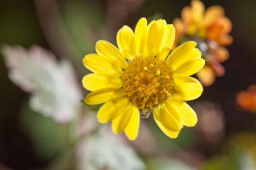
[[(117, 143), (117, 142), (116, 142)], [(103, 136), (91, 136), (79, 146), (79, 170), (144, 170), (145, 164), (135, 151)]]

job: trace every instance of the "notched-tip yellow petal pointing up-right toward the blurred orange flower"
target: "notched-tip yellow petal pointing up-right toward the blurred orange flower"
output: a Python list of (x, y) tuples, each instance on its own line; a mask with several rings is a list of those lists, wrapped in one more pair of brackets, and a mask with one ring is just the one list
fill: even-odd
[(201, 58), (201, 51), (195, 48), (196, 42), (188, 41), (175, 48), (174, 51), (166, 59), (166, 63), (170, 65), (174, 70), (178, 68), (184, 62), (194, 59)]

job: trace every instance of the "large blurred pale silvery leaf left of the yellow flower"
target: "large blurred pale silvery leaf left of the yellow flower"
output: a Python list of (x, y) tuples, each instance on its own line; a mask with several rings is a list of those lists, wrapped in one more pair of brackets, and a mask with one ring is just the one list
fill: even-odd
[(57, 61), (52, 53), (39, 46), (26, 50), (5, 45), (1, 52), (10, 79), (32, 93), (29, 105), (33, 110), (60, 123), (69, 122), (80, 112), (82, 93), (70, 62)]

